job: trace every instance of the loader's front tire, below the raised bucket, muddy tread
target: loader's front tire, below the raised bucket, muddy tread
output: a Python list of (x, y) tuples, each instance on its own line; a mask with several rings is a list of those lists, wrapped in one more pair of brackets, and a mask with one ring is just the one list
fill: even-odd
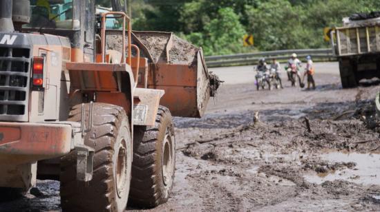
[(152, 208), (167, 202), (175, 171), (175, 136), (169, 109), (159, 107), (154, 127), (136, 126), (130, 202)]

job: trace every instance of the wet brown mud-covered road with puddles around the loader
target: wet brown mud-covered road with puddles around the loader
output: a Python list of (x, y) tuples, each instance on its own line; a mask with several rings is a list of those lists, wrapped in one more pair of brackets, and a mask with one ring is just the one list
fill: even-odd
[[(211, 71), (225, 83), (204, 118), (175, 118), (173, 194), (146, 211), (380, 211), (376, 81), (343, 90), (337, 63), (317, 63), (316, 90), (283, 74), (256, 91), (251, 67)], [(39, 181), (0, 211), (60, 211), (58, 189)]]

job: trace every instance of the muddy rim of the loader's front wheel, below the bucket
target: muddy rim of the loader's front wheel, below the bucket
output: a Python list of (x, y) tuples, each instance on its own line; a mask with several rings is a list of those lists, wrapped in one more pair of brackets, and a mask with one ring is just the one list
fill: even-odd
[(162, 150), (162, 180), (165, 186), (169, 185), (173, 176), (173, 140), (169, 134), (165, 134)]

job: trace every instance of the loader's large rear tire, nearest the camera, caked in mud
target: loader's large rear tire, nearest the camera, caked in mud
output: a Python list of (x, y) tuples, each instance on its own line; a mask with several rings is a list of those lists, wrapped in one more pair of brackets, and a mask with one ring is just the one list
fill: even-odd
[[(76, 105), (69, 120), (80, 122), (82, 105)], [(89, 104), (85, 105), (86, 124)], [(61, 158), (61, 207), (63, 211), (124, 211), (129, 197), (132, 142), (129, 119), (124, 109), (104, 103), (93, 104), (93, 127), (84, 138), (95, 149), (93, 179), (76, 178), (76, 156)]]

